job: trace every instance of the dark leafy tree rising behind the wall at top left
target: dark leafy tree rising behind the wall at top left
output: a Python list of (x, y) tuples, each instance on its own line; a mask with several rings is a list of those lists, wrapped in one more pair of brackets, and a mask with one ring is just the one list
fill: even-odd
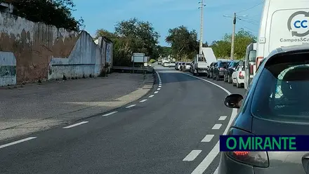
[(33, 22), (44, 22), (58, 28), (79, 31), (84, 29), (84, 20), (72, 16), (75, 11), (72, 0), (13, 0), (13, 15)]

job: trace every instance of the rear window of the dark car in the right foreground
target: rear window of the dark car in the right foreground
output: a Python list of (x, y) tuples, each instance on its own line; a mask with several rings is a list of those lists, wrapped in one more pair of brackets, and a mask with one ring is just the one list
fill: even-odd
[(309, 122), (309, 53), (269, 61), (260, 69), (252, 114), (275, 121)]

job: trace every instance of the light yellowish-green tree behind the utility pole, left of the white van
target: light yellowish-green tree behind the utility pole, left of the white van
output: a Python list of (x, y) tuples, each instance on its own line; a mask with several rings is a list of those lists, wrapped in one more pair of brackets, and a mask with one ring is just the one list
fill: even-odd
[[(216, 57), (230, 58), (231, 38), (232, 34), (225, 34), (221, 41), (213, 41), (211, 43), (211, 48), (213, 48), (213, 53), (215, 53)], [(246, 54), (246, 46), (252, 42), (256, 42), (256, 36), (244, 29), (239, 29), (235, 34), (235, 59), (243, 59)]]

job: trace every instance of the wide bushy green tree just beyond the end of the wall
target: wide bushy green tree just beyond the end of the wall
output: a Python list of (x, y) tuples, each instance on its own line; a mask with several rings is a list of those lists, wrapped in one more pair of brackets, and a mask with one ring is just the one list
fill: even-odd
[(137, 18), (117, 22), (115, 32), (98, 29), (98, 36), (106, 36), (114, 41), (114, 65), (131, 66), (132, 53), (145, 53), (150, 58), (158, 58), (160, 47), (159, 33), (150, 22), (140, 21)]

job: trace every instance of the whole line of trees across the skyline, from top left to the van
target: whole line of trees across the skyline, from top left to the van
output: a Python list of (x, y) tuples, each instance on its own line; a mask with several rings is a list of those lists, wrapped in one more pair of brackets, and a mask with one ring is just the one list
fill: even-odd
[[(76, 19), (72, 16), (72, 11), (76, 11), (73, 0), (13, 0), (13, 6), (13, 15), (33, 22), (44, 22), (46, 25), (73, 31), (80, 31), (85, 27), (83, 18)], [(98, 29), (95, 37), (98, 36), (105, 36), (114, 42), (114, 65), (131, 65), (132, 53), (145, 53), (152, 59), (171, 55), (176, 60), (189, 61), (199, 52), (197, 31), (189, 30), (183, 25), (169, 29), (165, 38), (169, 46), (159, 46), (159, 32), (152, 23), (138, 18), (117, 22), (113, 32)], [(251, 32), (240, 29), (235, 34), (235, 58), (244, 58), (246, 46), (254, 41), (256, 37)], [(211, 44), (203, 43), (203, 47), (207, 46), (213, 48), (217, 58), (229, 58), (231, 34), (225, 34), (223, 39)]]

